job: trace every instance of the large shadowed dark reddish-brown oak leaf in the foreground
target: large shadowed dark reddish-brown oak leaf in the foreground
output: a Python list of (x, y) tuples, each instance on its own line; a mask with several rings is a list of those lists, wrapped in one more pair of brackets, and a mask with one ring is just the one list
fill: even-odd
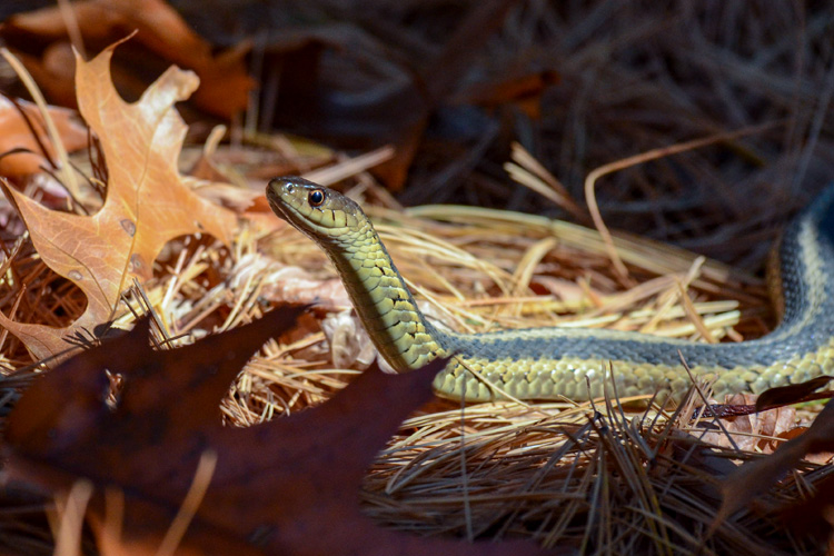
[[(89, 480), (96, 494), (87, 516), (105, 555), (157, 554), (201, 461), (211, 473), (178, 554), (543, 554), (527, 542), (420, 538), (360, 513), (367, 467), (431, 397), (443, 360), (406, 375), (365, 373), (321, 406), (271, 423), (221, 426), (219, 404), (241, 366), (301, 310), (279, 308), (161, 351), (149, 347), (142, 319), (73, 357), (32, 385), (9, 417), (8, 473), (56, 493)], [(106, 370), (121, 379), (115, 407), (106, 401)], [(121, 519), (108, 525), (115, 499), (123, 502)]]

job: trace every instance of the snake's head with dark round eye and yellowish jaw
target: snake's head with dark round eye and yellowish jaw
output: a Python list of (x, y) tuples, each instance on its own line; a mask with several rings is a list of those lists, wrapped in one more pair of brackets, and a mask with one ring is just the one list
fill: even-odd
[(297, 176), (269, 180), (267, 199), (278, 217), (317, 242), (353, 234), (367, 221), (354, 200)]

